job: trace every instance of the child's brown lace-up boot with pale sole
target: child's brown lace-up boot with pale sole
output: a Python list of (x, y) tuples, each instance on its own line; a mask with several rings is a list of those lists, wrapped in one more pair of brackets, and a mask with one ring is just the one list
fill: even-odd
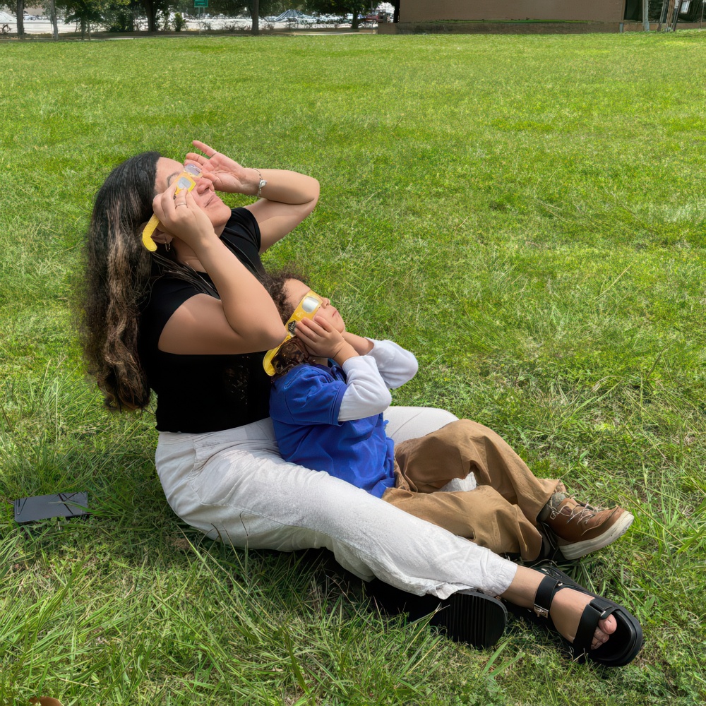
[(623, 508), (601, 510), (554, 493), (537, 520), (549, 527), (567, 559), (578, 559), (615, 542), (635, 518)]

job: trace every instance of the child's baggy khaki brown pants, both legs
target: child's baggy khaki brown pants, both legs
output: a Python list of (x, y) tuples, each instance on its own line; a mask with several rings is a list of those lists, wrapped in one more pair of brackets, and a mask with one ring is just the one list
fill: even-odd
[[(383, 493), (384, 501), (496, 554), (530, 560), (539, 556), (537, 515), (563, 485), (535, 478), (488, 427), (469, 419), (453, 421), (395, 445), (395, 461), (395, 488)], [(437, 492), (469, 473), (476, 478), (476, 489)]]

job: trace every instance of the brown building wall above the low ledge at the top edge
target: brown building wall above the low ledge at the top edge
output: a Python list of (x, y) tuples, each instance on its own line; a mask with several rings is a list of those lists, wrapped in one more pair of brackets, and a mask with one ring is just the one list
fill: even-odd
[(588, 20), (622, 22), (625, 0), (401, 0), (400, 22)]

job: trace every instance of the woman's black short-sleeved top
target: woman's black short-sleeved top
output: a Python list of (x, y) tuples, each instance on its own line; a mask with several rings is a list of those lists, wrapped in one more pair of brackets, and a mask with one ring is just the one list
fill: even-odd
[[(253, 275), (263, 275), (260, 229), (249, 210), (233, 209), (221, 240)], [(201, 274), (213, 287), (210, 277)], [(190, 282), (162, 275), (141, 307), (140, 363), (150, 388), (157, 393), (159, 431), (221, 431), (270, 414), (270, 377), (263, 369), (264, 352), (178, 355), (160, 351), (160, 335), (169, 318), (186, 299), (201, 292)]]

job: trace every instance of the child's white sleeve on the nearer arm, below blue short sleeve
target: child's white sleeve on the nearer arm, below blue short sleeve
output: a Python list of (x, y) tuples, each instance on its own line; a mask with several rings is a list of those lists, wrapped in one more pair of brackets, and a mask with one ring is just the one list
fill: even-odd
[(373, 357), (354, 356), (345, 361), (342, 368), (346, 373), (348, 387), (343, 393), (338, 421), (372, 417), (390, 406), (393, 397)]

